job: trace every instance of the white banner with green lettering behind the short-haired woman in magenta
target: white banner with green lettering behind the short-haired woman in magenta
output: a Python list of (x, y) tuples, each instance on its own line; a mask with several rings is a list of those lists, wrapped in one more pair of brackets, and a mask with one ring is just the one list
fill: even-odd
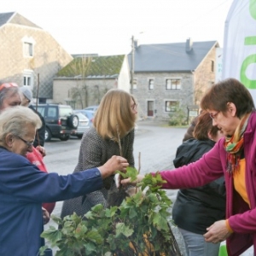
[(234, 0), (224, 27), (222, 78), (235, 78), (256, 102), (256, 0)]

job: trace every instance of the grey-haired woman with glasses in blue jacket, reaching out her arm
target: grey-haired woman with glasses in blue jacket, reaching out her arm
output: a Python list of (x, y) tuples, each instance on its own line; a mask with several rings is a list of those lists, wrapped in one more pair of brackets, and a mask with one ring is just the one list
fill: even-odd
[(42, 245), (42, 202), (64, 201), (102, 188), (103, 179), (125, 172), (127, 160), (114, 155), (104, 165), (66, 176), (41, 172), (26, 159), (41, 120), (30, 108), (0, 114), (0, 255), (38, 255)]

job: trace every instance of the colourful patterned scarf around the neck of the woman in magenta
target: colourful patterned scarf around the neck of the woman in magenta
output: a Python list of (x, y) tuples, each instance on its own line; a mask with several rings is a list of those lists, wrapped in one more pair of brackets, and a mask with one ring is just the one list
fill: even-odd
[(248, 119), (251, 113), (247, 113), (236, 128), (232, 137), (226, 137), (224, 147), (227, 151), (227, 172), (230, 174), (239, 170), (239, 161), (243, 150), (243, 134), (246, 131)]

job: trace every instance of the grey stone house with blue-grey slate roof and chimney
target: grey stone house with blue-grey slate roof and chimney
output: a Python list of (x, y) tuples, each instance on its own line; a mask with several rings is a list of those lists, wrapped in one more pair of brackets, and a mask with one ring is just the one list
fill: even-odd
[(135, 47), (131, 91), (140, 117), (169, 119), (177, 109), (187, 120), (197, 115), (201, 96), (215, 80), (216, 48), (216, 41), (193, 43), (190, 38)]

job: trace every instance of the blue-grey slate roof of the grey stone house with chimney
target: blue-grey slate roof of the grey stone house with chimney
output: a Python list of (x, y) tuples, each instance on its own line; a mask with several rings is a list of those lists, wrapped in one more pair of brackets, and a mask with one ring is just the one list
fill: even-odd
[[(142, 44), (135, 49), (134, 72), (186, 72), (195, 70), (217, 41), (194, 42), (186, 51), (186, 42)], [(131, 67), (131, 53), (128, 55)]]

